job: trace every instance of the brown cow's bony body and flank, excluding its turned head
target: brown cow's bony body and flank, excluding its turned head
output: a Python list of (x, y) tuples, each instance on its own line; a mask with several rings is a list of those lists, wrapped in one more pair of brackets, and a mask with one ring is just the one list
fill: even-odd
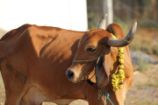
[[(36, 25), (23, 25), (5, 34), (0, 40), (5, 105), (40, 105), (60, 99), (85, 99), (89, 105), (102, 105), (95, 85), (87, 80), (74, 84), (65, 76), (79, 40), (94, 33), (98, 37), (105, 34), (106, 40), (110, 35), (108, 30), (77, 32)], [(94, 69), (95, 62), (89, 64), (93, 67), (88, 69)]]

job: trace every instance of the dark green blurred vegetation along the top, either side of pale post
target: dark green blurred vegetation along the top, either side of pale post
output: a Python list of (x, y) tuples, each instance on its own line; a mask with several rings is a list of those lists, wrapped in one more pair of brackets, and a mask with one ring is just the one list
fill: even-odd
[[(104, 0), (87, 0), (89, 28), (103, 17)], [(137, 19), (141, 27), (158, 27), (157, 0), (113, 0), (114, 22), (127, 24)]]

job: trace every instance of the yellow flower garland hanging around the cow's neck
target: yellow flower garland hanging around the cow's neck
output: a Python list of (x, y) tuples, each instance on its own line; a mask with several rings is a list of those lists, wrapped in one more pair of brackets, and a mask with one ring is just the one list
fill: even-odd
[[(114, 39), (117, 39), (116, 36), (112, 35)], [(118, 48), (118, 70), (112, 74), (112, 87), (114, 91), (117, 91), (121, 88), (121, 85), (125, 79), (124, 71), (124, 47)]]

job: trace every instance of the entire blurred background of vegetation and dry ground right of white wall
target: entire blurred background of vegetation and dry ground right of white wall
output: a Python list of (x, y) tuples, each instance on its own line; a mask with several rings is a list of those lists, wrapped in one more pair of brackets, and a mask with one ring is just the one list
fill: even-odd
[[(104, 17), (104, 0), (87, 0), (89, 29), (98, 27)], [(158, 0), (112, 0), (113, 21), (127, 33), (138, 21), (130, 45), (134, 82), (126, 105), (158, 105)]]

